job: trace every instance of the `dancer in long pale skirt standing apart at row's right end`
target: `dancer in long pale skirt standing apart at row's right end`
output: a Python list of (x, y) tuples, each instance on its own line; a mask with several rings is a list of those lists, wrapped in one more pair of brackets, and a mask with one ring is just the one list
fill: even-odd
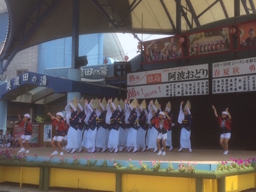
[(186, 103), (186, 106), (182, 111), (183, 104), (184, 104), (184, 101), (180, 102), (180, 112), (178, 117), (178, 123), (181, 124), (179, 152), (182, 152), (183, 148), (188, 148), (189, 152), (192, 152), (191, 141), (190, 141), (191, 125), (193, 122), (193, 118), (190, 112), (191, 107), (190, 107), (190, 102), (188, 100), (188, 102)]

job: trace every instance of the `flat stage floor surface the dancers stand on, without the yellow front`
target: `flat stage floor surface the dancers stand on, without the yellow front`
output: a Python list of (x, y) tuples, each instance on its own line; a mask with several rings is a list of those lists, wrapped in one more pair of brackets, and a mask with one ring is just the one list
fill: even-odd
[[(8, 149), (8, 148), (0, 148), (0, 150)], [(10, 148), (9, 148), (10, 149)], [(12, 148), (14, 150), (19, 151), (20, 148)], [(88, 158), (88, 159), (107, 159), (107, 160), (120, 160), (120, 161), (169, 161), (173, 163), (180, 163), (183, 161), (184, 163), (206, 163), (206, 164), (214, 164), (218, 163), (219, 161), (230, 161), (232, 159), (250, 159), (255, 157), (255, 151), (248, 151), (248, 150), (229, 150), (228, 155), (223, 155), (223, 150), (212, 150), (212, 149), (193, 149), (193, 152), (188, 152), (188, 149), (182, 150), (182, 152), (178, 152), (179, 148), (173, 148), (172, 152), (168, 151), (166, 148), (166, 155), (165, 156), (157, 156), (157, 152), (154, 153), (151, 150), (146, 150), (145, 152), (127, 152), (124, 150), (123, 152), (94, 152), (88, 153), (85, 150), (81, 153), (74, 153), (69, 154), (64, 151), (64, 156), (55, 155), (52, 157), (65, 157), (65, 158), (73, 158), (78, 157), (81, 159)], [(51, 147), (32, 147), (29, 148), (29, 154), (27, 156), (42, 156), (42, 157), (49, 157), (53, 152)]]

